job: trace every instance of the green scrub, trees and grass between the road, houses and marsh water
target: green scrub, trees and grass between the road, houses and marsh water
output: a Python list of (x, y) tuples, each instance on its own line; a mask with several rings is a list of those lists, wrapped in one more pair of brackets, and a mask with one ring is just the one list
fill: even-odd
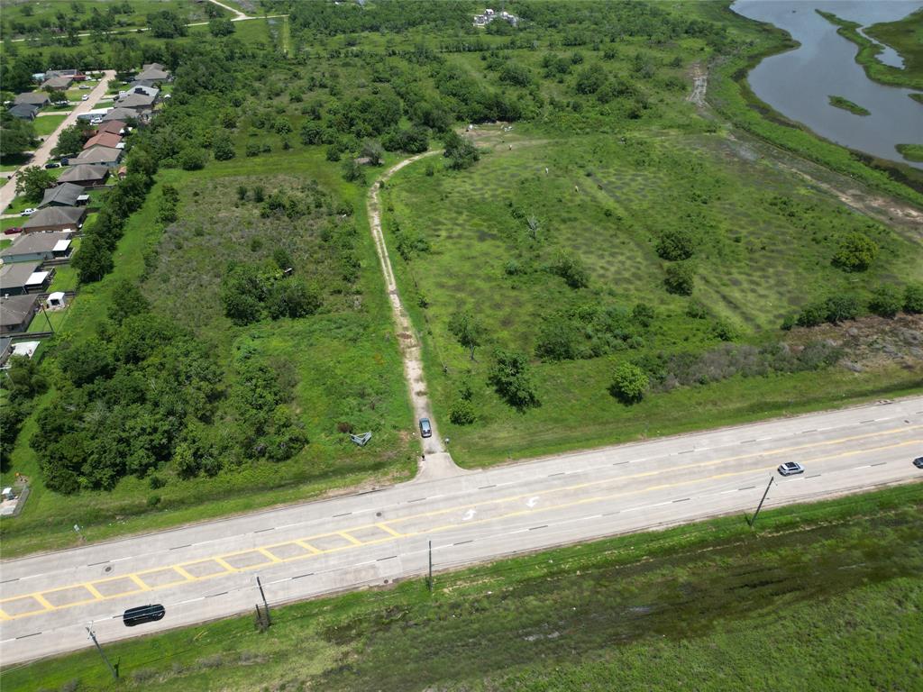
[[(79, 295), (9, 455), (35, 492), (3, 523), (7, 553), (72, 541), (75, 521), (97, 539), (405, 477), (413, 426), (364, 207), (380, 166), (427, 148), (444, 155), (384, 191), (386, 232), (467, 463), (918, 386), (912, 363), (832, 368), (844, 354), (806, 326), (888, 312), (877, 291), (905, 297), (916, 246), (686, 101), (689, 70), (730, 55), (720, 113), (876, 194), (919, 197), (749, 108), (731, 77), (773, 33), (709, 4), (523, 2), (520, 28), (487, 30), (457, 3), (261, 7), (291, 17), (228, 34), (146, 7), (151, 31), (102, 50), (3, 45), (5, 83), (147, 62), (176, 77), (55, 280)], [(129, 332), (143, 348), (123, 347)], [(113, 423), (62, 413), (75, 407)], [(347, 433), (366, 430), (354, 447)], [(88, 440), (105, 440), (104, 461)]]

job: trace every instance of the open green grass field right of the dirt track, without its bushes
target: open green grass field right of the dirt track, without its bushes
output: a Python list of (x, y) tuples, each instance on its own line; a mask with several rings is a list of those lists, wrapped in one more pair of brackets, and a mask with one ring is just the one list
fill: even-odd
[[(420, 161), (384, 192), (392, 262), (423, 332), (440, 423), (463, 464), (738, 423), (866, 398), (878, 387), (918, 386), (919, 371), (833, 370), (732, 377), (655, 393), (632, 407), (615, 400), (607, 388), (618, 362), (714, 349), (722, 340), (715, 318), (745, 341), (778, 339), (784, 316), (810, 300), (894, 277), (923, 278), (919, 250), (911, 238), (755, 161), (754, 152), (721, 135), (665, 132), (629, 136), (624, 144), (506, 137), (467, 171)], [(522, 219), (529, 215), (540, 221), (537, 241)], [(665, 291), (665, 262), (655, 252), (659, 235), (677, 227), (697, 238), (691, 298)], [(429, 251), (402, 260), (396, 228), (425, 237)], [(839, 234), (850, 231), (869, 233), (881, 245), (876, 266), (861, 280), (831, 265)], [(590, 275), (587, 288), (570, 288), (545, 270), (561, 254), (580, 258)], [(712, 317), (689, 316), (692, 301)], [(545, 323), (558, 312), (588, 305), (631, 310), (638, 303), (656, 314), (641, 343), (577, 360), (539, 357)], [(449, 329), (460, 309), (475, 312), (485, 327), (473, 363)], [(532, 356), (540, 407), (516, 412), (486, 384), (497, 346)], [(478, 420), (447, 425), (462, 382), (473, 388)]]

